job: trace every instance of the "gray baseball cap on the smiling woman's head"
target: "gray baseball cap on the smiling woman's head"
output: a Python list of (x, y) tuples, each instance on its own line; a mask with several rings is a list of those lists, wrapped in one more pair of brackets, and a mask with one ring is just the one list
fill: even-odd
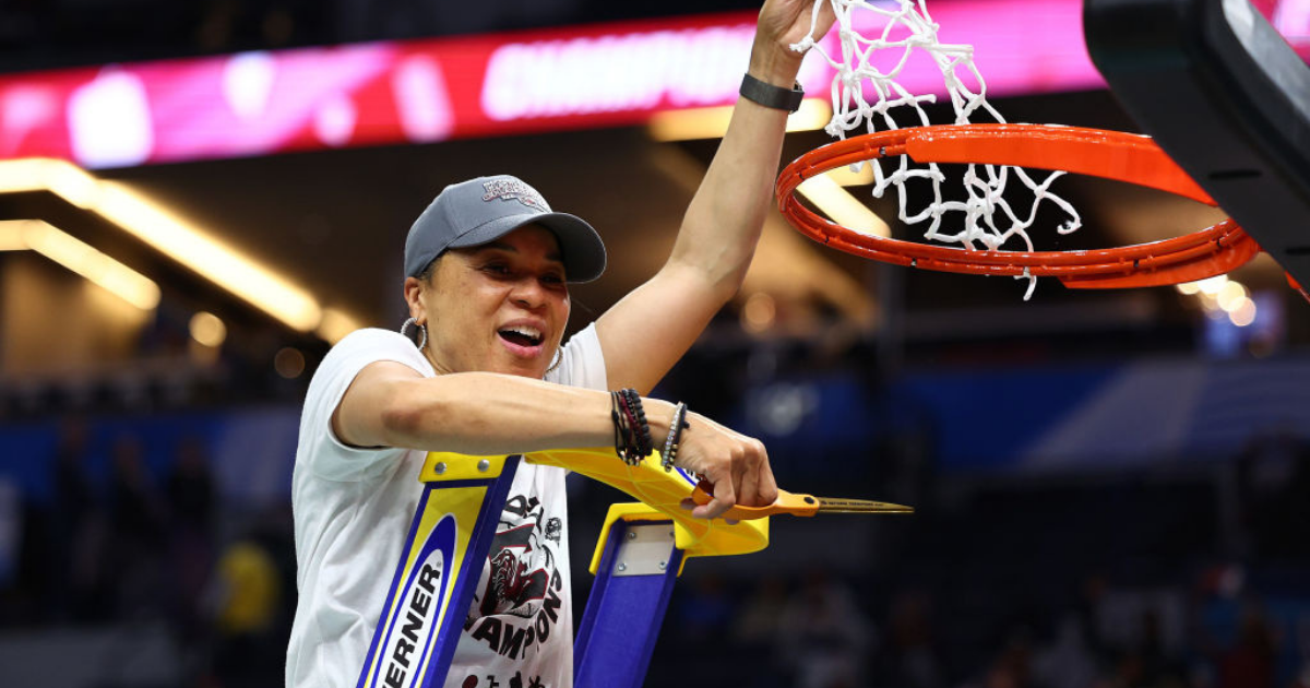
[(523, 180), (496, 174), (452, 183), (432, 199), (405, 239), (405, 275), (418, 277), (445, 249), (481, 246), (525, 224), (555, 235), (569, 282), (591, 282), (605, 271), (605, 244), (590, 224), (553, 212)]

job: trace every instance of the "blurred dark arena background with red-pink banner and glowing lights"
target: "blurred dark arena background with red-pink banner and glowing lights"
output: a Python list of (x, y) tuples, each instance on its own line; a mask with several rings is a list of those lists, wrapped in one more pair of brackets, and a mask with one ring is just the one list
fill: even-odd
[[(1256, 7), (1307, 54), (1310, 4)], [(580, 328), (667, 254), (717, 144), (689, 127), (735, 86), (698, 69), (739, 77), (755, 9), (0, 7), (0, 683), (280, 685), (299, 401), (342, 332), (400, 325), (409, 223), (452, 181), (528, 180), (609, 245), (574, 291)], [(1134, 130), (1089, 72), (1077, 1), (930, 9), (979, 46), (1010, 121)], [(555, 50), (575, 43), (584, 59)], [(479, 101), (470, 80), (506, 46), (618, 67), (514, 72)], [(445, 92), (422, 85), (432, 69)], [(793, 132), (783, 157), (827, 140)], [(1087, 227), (1044, 248), (1222, 216), (1061, 183)], [(910, 236), (867, 189), (850, 191)], [(37, 220), (156, 291), (134, 305), (24, 242)], [(169, 249), (161, 227), (210, 244)], [(224, 252), (246, 262), (223, 273)], [(299, 311), (242, 291), (269, 275)], [(1230, 277), (1254, 312), (1055, 282), (1026, 303), (1022, 282), (878, 266), (770, 218), (745, 288), (656, 394), (764, 439), (787, 489), (918, 511), (774, 519), (766, 552), (693, 561), (647, 685), (1310, 685), (1310, 304), (1267, 259)], [(622, 495), (571, 489), (586, 561)], [(580, 615), (591, 577), (574, 584)]]

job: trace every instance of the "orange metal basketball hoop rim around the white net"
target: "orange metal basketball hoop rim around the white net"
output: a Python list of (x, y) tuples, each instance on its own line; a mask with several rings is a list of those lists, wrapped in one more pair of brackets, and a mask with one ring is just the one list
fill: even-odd
[(796, 186), (811, 177), (841, 165), (892, 156), (909, 156), (921, 164), (964, 162), (1070, 172), (1217, 206), (1146, 136), (1047, 124), (941, 124), (854, 136), (800, 156), (778, 178), (778, 208), (810, 239), (865, 258), (947, 273), (1055, 277), (1072, 288), (1193, 282), (1241, 267), (1260, 252), (1255, 240), (1231, 219), (1176, 239), (1098, 250), (937, 246), (842, 227), (815, 214), (795, 195)]

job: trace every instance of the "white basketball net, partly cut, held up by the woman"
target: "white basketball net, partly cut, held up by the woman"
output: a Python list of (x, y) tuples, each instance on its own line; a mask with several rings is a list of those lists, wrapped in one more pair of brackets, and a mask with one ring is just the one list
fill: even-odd
[[(836, 13), (836, 29), (841, 39), (841, 59), (828, 54), (814, 35), (814, 20), (817, 18), (823, 3), (832, 5)], [(878, 17), (859, 17), (857, 13), (870, 12)], [(878, 35), (869, 38), (855, 30), (855, 18), (870, 20), (866, 25), (878, 26)], [(992, 122), (1005, 123), (989, 102), (982, 75), (973, 66), (973, 46), (947, 45), (937, 38), (938, 25), (927, 14), (925, 0), (819, 0), (815, 3), (810, 35), (793, 50), (817, 51), (837, 75), (832, 80), (832, 121), (827, 131), (832, 136), (845, 139), (854, 130), (857, 134), (872, 134), (883, 128), (900, 128), (893, 114), (905, 113), (913, 119), (912, 126), (927, 126), (927, 113), (921, 104), (937, 102), (933, 93), (914, 94), (901, 85), (901, 75), (910, 64), (916, 52), (924, 52), (933, 59), (942, 72), (946, 92), (951, 97), (955, 111), (955, 124), (971, 123), (971, 117), (988, 117)], [(819, 37), (821, 38), (821, 37)], [(976, 90), (971, 90), (963, 75), (972, 77)], [(1064, 174), (1053, 172), (1036, 181), (1022, 168), (1001, 165), (968, 165), (960, 180), (963, 194), (946, 199), (943, 185), (946, 176), (937, 164), (912, 165), (909, 156), (899, 156), (889, 174), (883, 168), (883, 160), (870, 161), (874, 166), (874, 197), (882, 198), (888, 187), (895, 187), (900, 201), (900, 219), (907, 224), (929, 220), (924, 239), (947, 244), (960, 244), (968, 249), (979, 245), (986, 249), (1006, 249), (1006, 244), (1017, 239), (1023, 250), (1035, 250), (1027, 229), (1036, 220), (1038, 207), (1043, 201), (1058, 206), (1068, 220), (1060, 225), (1060, 233), (1069, 233), (1082, 225), (1078, 211), (1069, 202), (1049, 191), (1051, 182)], [(858, 172), (863, 162), (854, 165)], [(981, 174), (979, 173), (981, 168)], [(1002, 198), (1010, 177), (1018, 178), (1031, 193), (1032, 206), (1027, 214), (1017, 212)], [(908, 207), (905, 186), (910, 180), (925, 180), (931, 183), (933, 201), (926, 207), (912, 211)], [(963, 197), (963, 198), (960, 198)], [(964, 227), (951, 227), (943, 223), (948, 214), (963, 214)], [(943, 225), (946, 224), (946, 225)], [(1030, 278), (1028, 296), (1032, 294), (1035, 278)], [(1027, 299), (1027, 296), (1024, 296)]]

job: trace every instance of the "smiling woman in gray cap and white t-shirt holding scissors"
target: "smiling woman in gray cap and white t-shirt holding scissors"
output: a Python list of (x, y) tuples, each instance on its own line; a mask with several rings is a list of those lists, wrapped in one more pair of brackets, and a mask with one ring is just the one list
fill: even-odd
[[(617, 448), (631, 453), (675, 434), (680, 409), (638, 394), (740, 287), (770, 202), (787, 109), (798, 101), (802, 55), (789, 46), (808, 33), (811, 5), (765, 3), (744, 97), (668, 262), (566, 346), (567, 284), (595, 279), (605, 262), (587, 223), (552, 212), (508, 176), (452, 185), (414, 223), (402, 328), (411, 338), (352, 333), (325, 358), (305, 400), (292, 495), (300, 602), (288, 685), (358, 683), (428, 451), (512, 455), (618, 438)], [(824, 30), (832, 24), (827, 9), (820, 21)], [(609, 392), (618, 389), (634, 393)], [(616, 405), (633, 413), (617, 422)], [(758, 440), (694, 413), (685, 421), (676, 465), (714, 484), (714, 499), (696, 516), (777, 497)], [(563, 472), (521, 465), (445, 685), (572, 684), (567, 553)], [(478, 637), (478, 617), (532, 619), (546, 595), (562, 598), (546, 633), (534, 629), (514, 651)]]

